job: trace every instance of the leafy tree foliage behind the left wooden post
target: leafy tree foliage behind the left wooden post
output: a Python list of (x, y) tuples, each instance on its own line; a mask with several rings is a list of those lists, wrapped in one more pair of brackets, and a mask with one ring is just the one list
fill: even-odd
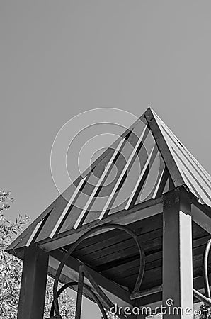
[[(7, 201), (13, 201), (10, 191), (0, 191), (0, 318), (14, 319), (17, 317), (18, 298), (21, 286), (22, 261), (4, 250), (15, 239), (16, 235), (28, 224), (30, 218), (25, 214), (20, 214), (14, 222), (8, 220), (3, 211), (9, 208)], [(47, 276), (45, 316), (50, 316), (52, 305), (52, 290), (54, 280)], [(61, 287), (62, 284), (59, 284)], [(65, 318), (75, 318), (75, 307), (73, 298), (69, 297), (68, 291), (64, 291), (59, 298), (61, 315), (65, 313)], [(2, 314), (4, 315), (2, 317)], [(63, 316), (64, 318), (64, 316)]]

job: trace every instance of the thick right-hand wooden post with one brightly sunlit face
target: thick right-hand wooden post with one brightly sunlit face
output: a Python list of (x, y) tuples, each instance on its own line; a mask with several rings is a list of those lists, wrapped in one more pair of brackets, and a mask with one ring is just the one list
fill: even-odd
[(181, 186), (164, 195), (164, 319), (193, 318), (193, 258), (190, 198)]

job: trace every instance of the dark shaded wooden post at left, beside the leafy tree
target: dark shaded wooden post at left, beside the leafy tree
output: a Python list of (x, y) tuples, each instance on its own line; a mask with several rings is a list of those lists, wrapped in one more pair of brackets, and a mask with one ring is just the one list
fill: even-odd
[(25, 248), (18, 319), (42, 319), (45, 305), (48, 254), (38, 247)]

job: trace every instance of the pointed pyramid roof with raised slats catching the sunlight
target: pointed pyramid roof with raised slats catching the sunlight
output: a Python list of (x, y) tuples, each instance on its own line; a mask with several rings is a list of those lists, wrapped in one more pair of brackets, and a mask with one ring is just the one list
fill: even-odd
[(181, 185), (211, 208), (210, 175), (148, 108), (7, 251), (21, 257), (21, 249), (33, 242), (45, 247), (68, 232), (79, 233), (115, 216), (120, 220), (127, 211), (154, 206), (162, 194)]

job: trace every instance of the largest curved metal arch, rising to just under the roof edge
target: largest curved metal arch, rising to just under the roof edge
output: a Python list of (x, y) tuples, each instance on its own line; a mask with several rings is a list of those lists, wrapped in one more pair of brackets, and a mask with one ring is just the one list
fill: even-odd
[(67, 259), (69, 256), (74, 252), (76, 247), (83, 242), (86, 237), (89, 237), (89, 235), (96, 233), (98, 230), (102, 230), (104, 228), (115, 228), (115, 229), (120, 229), (125, 231), (127, 234), (131, 235), (131, 237), (135, 240), (138, 250), (139, 250), (139, 255), (140, 255), (140, 264), (139, 264), (139, 273), (137, 276), (137, 280), (135, 283), (135, 287), (132, 291), (132, 295), (134, 295), (137, 291), (139, 291), (139, 288), (142, 284), (142, 279), (144, 276), (144, 267), (145, 267), (145, 256), (144, 256), (144, 250), (142, 249), (141, 243), (139, 242), (139, 237), (130, 229), (126, 228), (123, 225), (115, 224), (115, 223), (110, 223), (110, 224), (103, 224), (103, 225), (98, 225), (95, 228), (91, 228), (91, 230), (88, 230), (84, 235), (81, 235), (76, 242), (72, 245), (72, 247), (69, 248), (67, 253), (64, 255), (64, 258), (62, 259), (62, 262), (60, 262), (59, 267), (57, 269), (56, 275), (55, 275), (55, 282), (53, 286), (53, 298), (54, 298), (54, 306), (55, 306), (55, 314), (59, 315), (59, 303), (58, 303), (58, 295), (57, 295), (57, 289), (58, 289), (58, 283), (59, 283), (59, 276), (62, 273), (62, 269), (67, 262)]

